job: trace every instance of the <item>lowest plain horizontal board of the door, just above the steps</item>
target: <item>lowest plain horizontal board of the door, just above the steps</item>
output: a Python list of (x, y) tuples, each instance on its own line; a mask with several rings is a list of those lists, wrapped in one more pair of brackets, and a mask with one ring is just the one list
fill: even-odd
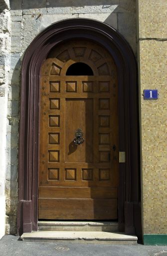
[(39, 219), (117, 219), (117, 199), (39, 198)]

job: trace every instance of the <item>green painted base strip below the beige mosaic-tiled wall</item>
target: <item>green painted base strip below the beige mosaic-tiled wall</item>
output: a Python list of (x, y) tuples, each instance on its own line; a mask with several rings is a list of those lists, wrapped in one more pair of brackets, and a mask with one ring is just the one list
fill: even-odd
[(145, 245), (167, 245), (167, 234), (144, 234)]

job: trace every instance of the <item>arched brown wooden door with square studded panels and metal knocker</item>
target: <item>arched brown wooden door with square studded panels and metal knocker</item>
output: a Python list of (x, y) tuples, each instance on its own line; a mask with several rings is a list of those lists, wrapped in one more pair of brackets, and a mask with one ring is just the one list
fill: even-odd
[[(73, 63), (93, 75), (66, 75)], [(40, 79), (39, 219), (117, 219), (118, 84), (100, 45), (71, 41), (52, 50)], [(75, 144), (81, 128), (84, 142)]]

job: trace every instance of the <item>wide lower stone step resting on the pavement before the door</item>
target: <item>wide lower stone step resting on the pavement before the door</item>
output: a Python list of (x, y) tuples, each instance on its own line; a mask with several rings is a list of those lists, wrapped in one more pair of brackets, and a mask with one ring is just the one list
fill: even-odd
[(126, 235), (121, 232), (104, 231), (36, 231), (23, 233), (20, 237), (24, 241), (70, 241), (81, 243), (103, 244), (137, 244), (136, 235)]

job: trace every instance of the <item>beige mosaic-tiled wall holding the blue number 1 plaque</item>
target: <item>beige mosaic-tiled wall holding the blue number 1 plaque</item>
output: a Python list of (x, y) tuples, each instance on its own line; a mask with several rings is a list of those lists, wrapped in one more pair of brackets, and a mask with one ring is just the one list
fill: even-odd
[[(167, 234), (167, 1), (138, 0), (143, 231)], [(144, 89), (159, 99), (144, 100)]]

